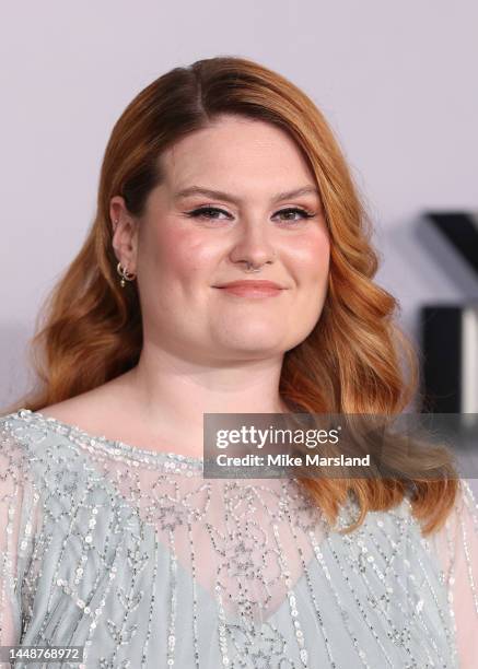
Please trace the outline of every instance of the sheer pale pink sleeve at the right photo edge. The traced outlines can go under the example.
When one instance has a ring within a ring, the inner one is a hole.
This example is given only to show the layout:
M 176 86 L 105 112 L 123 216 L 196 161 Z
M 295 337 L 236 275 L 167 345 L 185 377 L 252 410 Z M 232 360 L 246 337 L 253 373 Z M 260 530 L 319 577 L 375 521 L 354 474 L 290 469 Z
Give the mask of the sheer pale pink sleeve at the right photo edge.
M 459 667 L 471 669 L 478 666 L 478 505 L 466 480 L 432 543 L 448 589 Z

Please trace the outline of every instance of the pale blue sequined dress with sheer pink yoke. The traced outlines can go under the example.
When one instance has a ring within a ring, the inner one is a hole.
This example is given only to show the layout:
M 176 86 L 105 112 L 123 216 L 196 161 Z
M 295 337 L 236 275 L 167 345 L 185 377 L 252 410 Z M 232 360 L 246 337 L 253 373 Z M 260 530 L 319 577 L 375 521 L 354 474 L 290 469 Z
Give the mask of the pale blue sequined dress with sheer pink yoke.
M 431 538 L 407 498 L 340 535 L 294 479 L 205 479 L 28 410 L 0 443 L 1 645 L 84 648 L 50 668 L 478 667 L 466 481 Z

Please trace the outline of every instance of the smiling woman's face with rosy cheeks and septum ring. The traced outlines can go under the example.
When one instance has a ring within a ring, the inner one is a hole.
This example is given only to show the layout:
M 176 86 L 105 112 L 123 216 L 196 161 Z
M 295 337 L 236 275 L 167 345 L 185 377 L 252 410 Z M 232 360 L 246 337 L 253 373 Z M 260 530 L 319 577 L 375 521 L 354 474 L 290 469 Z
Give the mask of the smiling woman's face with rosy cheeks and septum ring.
M 144 343 L 211 364 L 282 355 L 302 342 L 324 305 L 329 238 L 293 140 L 264 121 L 223 116 L 167 150 L 162 165 L 165 180 L 144 215 L 114 239 L 137 273 Z M 280 196 L 298 189 L 307 192 Z M 131 221 L 123 204 L 112 199 L 121 223 Z M 246 273 L 246 261 L 260 271 Z M 252 297 L 218 287 L 236 280 L 283 290 Z

